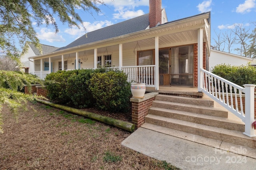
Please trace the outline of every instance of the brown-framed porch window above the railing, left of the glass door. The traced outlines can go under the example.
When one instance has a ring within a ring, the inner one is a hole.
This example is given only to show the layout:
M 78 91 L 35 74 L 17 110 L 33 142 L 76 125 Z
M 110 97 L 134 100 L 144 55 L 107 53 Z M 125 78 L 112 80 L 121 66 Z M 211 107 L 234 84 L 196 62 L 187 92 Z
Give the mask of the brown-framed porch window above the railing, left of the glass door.
M 153 58 L 153 50 L 149 51 L 139 51 L 138 52 L 138 65 L 153 65 L 154 58 Z

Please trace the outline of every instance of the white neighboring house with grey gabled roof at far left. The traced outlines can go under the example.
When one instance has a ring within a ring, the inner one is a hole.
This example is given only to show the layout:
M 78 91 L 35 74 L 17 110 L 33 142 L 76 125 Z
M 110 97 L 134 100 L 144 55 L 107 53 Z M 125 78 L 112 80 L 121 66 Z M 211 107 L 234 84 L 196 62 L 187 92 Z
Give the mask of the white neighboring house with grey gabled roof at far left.
M 29 59 L 29 58 L 41 55 L 41 53 L 32 43 L 30 42 L 27 42 L 27 43 L 28 43 L 28 51 L 27 53 L 25 53 L 20 57 L 20 61 L 22 63 L 22 67 L 20 68 L 20 70 L 27 73 L 34 74 L 34 65 L 35 65 L 34 59 Z M 41 44 L 41 47 L 42 47 L 43 55 L 51 53 L 52 51 L 55 51 L 56 49 L 58 49 L 58 47 L 52 47 L 52 46 L 43 45 L 43 44 Z M 47 63 L 43 63 L 43 64 L 44 66 L 47 67 Z M 44 70 L 47 70 L 47 68 L 44 68 Z

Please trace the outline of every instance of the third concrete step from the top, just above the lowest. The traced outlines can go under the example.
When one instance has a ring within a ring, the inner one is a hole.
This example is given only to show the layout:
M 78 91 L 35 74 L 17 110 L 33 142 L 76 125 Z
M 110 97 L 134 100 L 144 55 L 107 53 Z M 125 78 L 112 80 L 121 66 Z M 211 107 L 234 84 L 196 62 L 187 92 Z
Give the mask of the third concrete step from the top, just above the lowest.
M 244 132 L 244 123 L 242 121 L 234 121 L 232 119 L 224 117 L 209 116 L 172 109 L 163 109 L 159 107 L 151 107 L 149 109 L 149 114 L 169 117 L 182 121 L 189 121 L 201 125 L 208 125 L 212 127 L 219 127 L 223 129 Z

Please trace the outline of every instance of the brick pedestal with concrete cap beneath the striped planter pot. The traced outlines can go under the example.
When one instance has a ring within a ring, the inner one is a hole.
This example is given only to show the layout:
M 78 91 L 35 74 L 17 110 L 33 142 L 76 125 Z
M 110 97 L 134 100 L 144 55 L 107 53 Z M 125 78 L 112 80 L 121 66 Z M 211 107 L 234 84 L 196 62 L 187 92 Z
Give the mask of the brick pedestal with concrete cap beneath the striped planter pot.
M 144 98 L 130 98 L 132 102 L 132 123 L 135 128 L 139 128 L 145 122 L 145 116 L 152 107 L 153 101 L 156 100 L 158 93 L 151 92 L 144 95 Z

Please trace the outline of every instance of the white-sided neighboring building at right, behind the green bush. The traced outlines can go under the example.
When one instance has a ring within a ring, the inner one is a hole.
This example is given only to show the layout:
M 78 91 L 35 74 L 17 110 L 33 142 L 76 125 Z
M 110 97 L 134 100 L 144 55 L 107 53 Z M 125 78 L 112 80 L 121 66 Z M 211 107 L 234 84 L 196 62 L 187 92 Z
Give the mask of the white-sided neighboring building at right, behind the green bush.
M 218 64 L 230 64 L 231 66 L 246 65 L 252 63 L 254 59 L 226 53 L 224 51 L 218 51 L 211 49 L 211 57 L 209 58 L 209 70 Z

